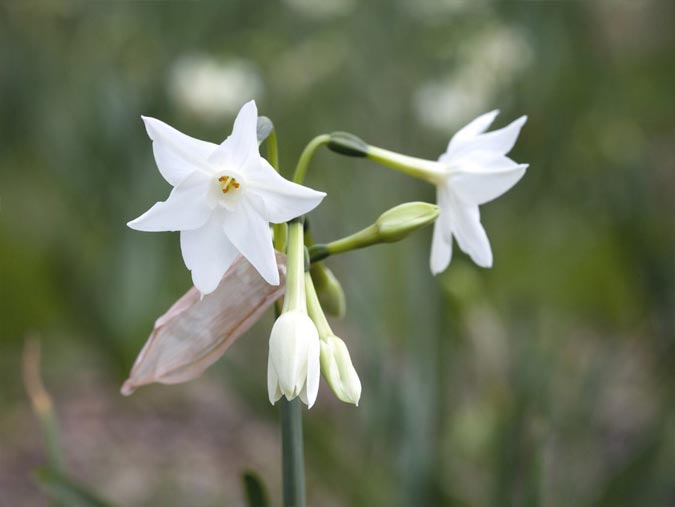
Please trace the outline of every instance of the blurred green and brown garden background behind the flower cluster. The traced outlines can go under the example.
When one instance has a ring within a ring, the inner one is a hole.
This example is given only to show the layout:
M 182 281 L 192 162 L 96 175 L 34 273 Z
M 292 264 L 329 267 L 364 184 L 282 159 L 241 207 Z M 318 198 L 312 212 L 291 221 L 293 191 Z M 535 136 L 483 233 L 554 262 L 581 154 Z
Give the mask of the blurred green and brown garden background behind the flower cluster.
M 73 475 L 115 505 L 280 505 L 264 319 L 201 379 L 119 386 L 189 286 L 178 235 L 125 223 L 169 187 L 140 115 L 221 141 L 255 98 L 288 174 L 347 130 L 436 158 L 500 108 L 530 163 L 482 208 L 491 270 L 431 231 L 331 260 L 364 390 L 305 418 L 310 505 L 675 505 L 675 4 L 0 3 L 0 505 L 43 506 L 20 358 L 41 337 Z M 317 240 L 433 189 L 320 153 Z

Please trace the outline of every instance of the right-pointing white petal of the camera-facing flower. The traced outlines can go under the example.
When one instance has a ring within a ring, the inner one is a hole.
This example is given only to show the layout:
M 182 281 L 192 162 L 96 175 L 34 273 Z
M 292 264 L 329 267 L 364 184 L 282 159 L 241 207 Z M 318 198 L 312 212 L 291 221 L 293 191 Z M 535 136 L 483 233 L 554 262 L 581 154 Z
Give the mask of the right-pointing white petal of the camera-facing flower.
M 288 222 L 309 213 L 326 197 L 325 192 L 318 192 L 283 178 L 263 158 L 253 166 L 249 165 L 246 183 L 250 191 L 263 200 L 265 216 L 269 222 Z

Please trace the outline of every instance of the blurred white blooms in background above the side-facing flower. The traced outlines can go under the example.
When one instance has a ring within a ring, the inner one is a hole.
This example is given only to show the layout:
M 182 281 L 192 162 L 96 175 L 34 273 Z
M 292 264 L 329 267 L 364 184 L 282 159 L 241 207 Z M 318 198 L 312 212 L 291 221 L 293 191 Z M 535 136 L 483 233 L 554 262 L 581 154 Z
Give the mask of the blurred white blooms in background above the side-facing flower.
M 423 84 L 413 97 L 420 123 L 447 131 L 494 109 L 498 92 L 527 68 L 533 51 L 518 31 L 493 25 L 458 49 L 454 72 Z

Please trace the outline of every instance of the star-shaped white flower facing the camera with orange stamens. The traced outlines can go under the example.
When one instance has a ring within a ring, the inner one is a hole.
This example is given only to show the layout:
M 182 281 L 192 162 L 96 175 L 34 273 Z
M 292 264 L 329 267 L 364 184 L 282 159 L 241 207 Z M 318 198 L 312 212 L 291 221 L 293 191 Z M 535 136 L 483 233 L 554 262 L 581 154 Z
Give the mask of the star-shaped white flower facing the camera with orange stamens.
M 181 251 L 202 294 L 213 292 L 239 253 L 279 284 L 269 223 L 314 209 L 326 195 L 282 178 L 260 156 L 254 101 L 239 111 L 222 144 L 200 141 L 143 117 L 159 172 L 174 188 L 166 201 L 127 225 L 180 231 Z

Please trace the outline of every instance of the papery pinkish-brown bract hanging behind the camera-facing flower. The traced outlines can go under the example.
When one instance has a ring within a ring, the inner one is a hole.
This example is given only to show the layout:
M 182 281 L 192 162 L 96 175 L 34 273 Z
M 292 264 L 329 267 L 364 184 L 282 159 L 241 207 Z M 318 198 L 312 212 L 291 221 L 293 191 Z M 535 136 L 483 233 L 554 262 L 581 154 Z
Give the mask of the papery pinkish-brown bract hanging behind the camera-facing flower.
M 279 253 L 277 265 L 277 286 L 240 256 L 211 294 L 200 298 L 192 287 L 155 322 L 122 394 L 153 382 L 178 384 L 199 377 L 284 293 L 286 258 Z

